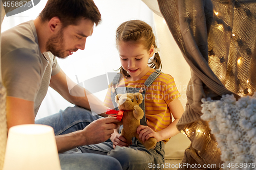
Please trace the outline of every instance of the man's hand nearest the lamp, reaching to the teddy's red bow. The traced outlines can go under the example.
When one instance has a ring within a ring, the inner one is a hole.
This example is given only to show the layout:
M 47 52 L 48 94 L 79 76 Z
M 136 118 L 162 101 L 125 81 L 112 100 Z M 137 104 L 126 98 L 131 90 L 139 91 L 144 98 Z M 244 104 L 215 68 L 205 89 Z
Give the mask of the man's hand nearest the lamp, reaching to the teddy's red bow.
M 116 117 L 100 118 L 89 124 L 82 130 L 86 145 L 101 143 L 108 140 L 114 129 L 117 128 L 115 122 L 119 122 Z

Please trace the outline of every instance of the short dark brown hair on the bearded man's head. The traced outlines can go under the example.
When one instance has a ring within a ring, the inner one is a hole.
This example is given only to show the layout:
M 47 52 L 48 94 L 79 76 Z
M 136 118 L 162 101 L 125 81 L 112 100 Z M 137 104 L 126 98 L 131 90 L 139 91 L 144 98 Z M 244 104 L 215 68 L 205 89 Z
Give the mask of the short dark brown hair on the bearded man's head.
M 80 19 L 90 19 L 96 26 L 101 20 L 100 12 L 93 0 L 48 0 L 39 17 L 43 22 L 58 17 L 62 28 L 77 25 Z

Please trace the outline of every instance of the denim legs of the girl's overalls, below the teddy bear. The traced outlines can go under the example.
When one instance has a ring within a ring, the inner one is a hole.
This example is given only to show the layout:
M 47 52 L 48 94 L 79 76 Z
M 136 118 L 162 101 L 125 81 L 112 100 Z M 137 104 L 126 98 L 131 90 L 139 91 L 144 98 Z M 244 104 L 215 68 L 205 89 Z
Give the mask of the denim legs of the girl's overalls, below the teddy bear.
M 78 147 L 82 153 L 94 153 L 108 155 L 116 158 L 123 169 L 161 169 L 154 165 L 164 164 L 164 142 L 157 142 L 155 149 L 147 150 L 136 140 L 130 147 L 119 147 L 113 149 L 112 142 L 85 145 Z M 155 167 L 155 168 L 154 168 Z

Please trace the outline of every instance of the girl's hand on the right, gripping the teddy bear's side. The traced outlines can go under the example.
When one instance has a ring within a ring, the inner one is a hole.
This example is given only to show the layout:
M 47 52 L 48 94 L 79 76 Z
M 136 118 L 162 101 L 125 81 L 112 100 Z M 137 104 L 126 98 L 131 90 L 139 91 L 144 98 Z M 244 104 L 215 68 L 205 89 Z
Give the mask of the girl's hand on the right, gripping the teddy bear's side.
M 148 126 L 140 125 L 137 128 L 137 133 L 139 134 L 139 138 L 143 141 L 143 143 L 148 140 L 150 137 L 154 137 L 157 139 L 157 142 L 161 141 L 161 136 L 159 133 L 155 132 Z

